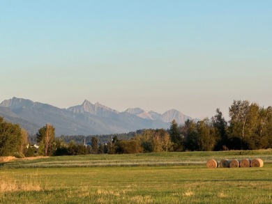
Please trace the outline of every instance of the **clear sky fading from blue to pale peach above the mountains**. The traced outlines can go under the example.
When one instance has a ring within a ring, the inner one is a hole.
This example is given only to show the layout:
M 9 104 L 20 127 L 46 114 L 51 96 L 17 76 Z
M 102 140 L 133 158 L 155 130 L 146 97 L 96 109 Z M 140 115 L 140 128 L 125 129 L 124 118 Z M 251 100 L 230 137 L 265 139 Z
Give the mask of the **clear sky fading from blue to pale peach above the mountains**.
M 272 1 L 0 0 L 0 102 L 177 109 L 272 105 Z

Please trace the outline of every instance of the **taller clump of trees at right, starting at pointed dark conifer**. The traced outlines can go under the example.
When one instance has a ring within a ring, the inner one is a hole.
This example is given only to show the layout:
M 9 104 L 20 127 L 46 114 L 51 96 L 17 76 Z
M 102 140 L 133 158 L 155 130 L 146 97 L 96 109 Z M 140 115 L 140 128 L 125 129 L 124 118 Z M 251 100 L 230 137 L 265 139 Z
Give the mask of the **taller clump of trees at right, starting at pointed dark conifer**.
M 247 100 L 234 100 L 227 123 L 220 109 L 211 120 L 183 125 L 172 121 L 174 150 L 255 150 L 272 148 L 272 108 L 260 107 Z

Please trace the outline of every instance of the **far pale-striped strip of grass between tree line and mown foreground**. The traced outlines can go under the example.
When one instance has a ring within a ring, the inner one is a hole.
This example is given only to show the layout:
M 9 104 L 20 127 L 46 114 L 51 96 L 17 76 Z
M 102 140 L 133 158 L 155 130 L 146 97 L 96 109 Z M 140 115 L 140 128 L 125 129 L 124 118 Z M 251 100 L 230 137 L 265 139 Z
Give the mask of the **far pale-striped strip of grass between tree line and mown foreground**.
M 2 168 L 60 168 L 94 166 L 187 166 L 204 165 L 209 159 L 262 158 L 272 163 L 272 150 L 225 152 L 162 152 L 136 155 L 83 155 L 47 157 L 33 160 L 17 159 L 0 164 Z

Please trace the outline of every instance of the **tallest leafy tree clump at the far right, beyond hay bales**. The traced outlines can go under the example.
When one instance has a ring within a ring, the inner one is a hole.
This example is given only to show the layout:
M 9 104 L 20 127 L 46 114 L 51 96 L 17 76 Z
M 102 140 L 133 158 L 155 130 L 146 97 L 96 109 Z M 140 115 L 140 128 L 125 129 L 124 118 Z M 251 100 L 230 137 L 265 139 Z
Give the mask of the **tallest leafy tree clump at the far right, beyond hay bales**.
M 234 100 L 229 108 L 230 141 L 236 141 L 232 146 L 238 149 L 268 148 L 271 112 L 271 107 L 264 109 L 256 103 Z

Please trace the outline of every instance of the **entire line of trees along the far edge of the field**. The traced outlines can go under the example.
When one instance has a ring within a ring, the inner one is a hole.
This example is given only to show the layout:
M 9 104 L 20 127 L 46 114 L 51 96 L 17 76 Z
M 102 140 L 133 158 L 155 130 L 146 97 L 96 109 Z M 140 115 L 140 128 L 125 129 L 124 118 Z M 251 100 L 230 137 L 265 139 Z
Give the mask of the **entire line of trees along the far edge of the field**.
M 0 118 L 0 156 L 129 154 L 144 152 L 255 150 L 272 148 L 272 108 L 234 100 L 229 121 L 220 109 L 211 119 L 172 121 L 169 130 L 137 130 L 103 136 L 60 136 L 49 123 L 29 143 L 27 131 Z

